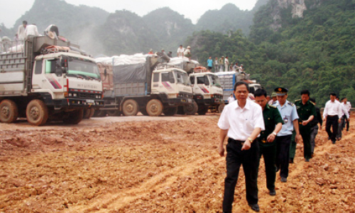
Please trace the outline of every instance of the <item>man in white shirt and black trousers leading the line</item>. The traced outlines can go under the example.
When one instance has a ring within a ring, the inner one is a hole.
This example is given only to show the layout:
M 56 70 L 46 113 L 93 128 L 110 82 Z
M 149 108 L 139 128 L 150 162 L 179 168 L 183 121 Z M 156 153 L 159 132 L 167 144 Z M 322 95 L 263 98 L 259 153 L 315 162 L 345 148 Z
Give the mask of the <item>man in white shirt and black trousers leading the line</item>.
M 228 136 L 223 212 L 231 212 L 241 165 L 245 174 L 246 200 L 251 209 L 259 212 L 257 137 L 265 130 L 263 111 L 258 104 L 248 99 L 249 86 L 246 82 L 234 84 L 234 95 L 236 101 L 224 107 L 218 121 L 220 129 L 218 152 L 221 157 L 224 156 L 224 139 Z

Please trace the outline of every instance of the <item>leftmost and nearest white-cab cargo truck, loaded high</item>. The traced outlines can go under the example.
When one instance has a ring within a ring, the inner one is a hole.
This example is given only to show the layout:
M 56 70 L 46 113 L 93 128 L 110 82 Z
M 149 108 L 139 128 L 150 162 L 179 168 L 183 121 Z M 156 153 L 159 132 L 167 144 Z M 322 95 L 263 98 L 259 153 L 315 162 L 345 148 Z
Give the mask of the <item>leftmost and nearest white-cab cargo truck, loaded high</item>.
M 0 121 L 26 117 L 40 126 L 60 120 L 78 124 L 84 109 L 104 106 L 93 58 L 69 41 L 29 36 L 0 45 Z

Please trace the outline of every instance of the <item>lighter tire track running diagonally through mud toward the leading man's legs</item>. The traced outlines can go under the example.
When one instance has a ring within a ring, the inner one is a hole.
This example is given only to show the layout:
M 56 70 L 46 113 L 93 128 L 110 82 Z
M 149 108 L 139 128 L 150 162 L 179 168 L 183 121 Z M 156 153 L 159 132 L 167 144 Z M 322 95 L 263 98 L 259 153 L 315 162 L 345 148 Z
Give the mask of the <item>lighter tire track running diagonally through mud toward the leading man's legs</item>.
M 109 210 L 118 211 L 119 209 L 124 209 L 126 205 L 130 204 L 134 200 L 138 200 L 141 197 L 149 195 L 153 191 L 164 190 L 173 182 L 178 180 L 178 178 L 184 177 L 194 172 L 200 165 L 211 162 L 224 161 L 224 158 L 220 158 L 219 155 L 214 155 L 207 158 L 202 158 L 195 162 L 185 163 L 184 166 L 178 166 L 172 170 L 167 170 L 164 173 L 155 175 L 154 178 L 143 182 L 138 187 L 123 192 L 118 192 L 116 194 L 106 194 L 102 197 L 97 197 L 91 204 L 86 204 L 84 206 L 75 206 L 67 209 L 65 212 L 107 212 Z

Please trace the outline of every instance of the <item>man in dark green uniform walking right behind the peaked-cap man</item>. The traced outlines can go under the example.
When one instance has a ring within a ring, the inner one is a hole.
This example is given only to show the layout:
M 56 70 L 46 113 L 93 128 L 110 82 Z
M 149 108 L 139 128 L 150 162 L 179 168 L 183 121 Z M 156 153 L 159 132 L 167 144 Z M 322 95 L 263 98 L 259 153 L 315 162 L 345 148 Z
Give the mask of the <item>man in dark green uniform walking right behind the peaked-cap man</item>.
M 298 126 L 300 126 L 300 135 L 303 139 L 303 155 L 306 162 L 310 162 L 312 158 L 312 148 L 310 143 L 311 127 L 310 121 L 317 116 L 315 104 L 310 102 L 310 91 L 303 89 L 301 91 L 301 99 L 295 101 L 297 114 L 299 116 Z M 290 153 L 295 153 L 296 146 L 291 144 Z

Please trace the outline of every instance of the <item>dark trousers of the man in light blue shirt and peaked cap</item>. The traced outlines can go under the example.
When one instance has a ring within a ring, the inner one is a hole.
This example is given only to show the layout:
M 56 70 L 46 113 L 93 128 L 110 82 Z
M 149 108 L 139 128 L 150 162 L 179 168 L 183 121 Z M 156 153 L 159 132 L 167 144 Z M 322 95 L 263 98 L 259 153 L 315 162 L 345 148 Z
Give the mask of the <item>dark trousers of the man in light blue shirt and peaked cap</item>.
M 288 160 L 292 135 L 276 136 L 276 167 L 280 168 L 280 177 L 288 178 Z

